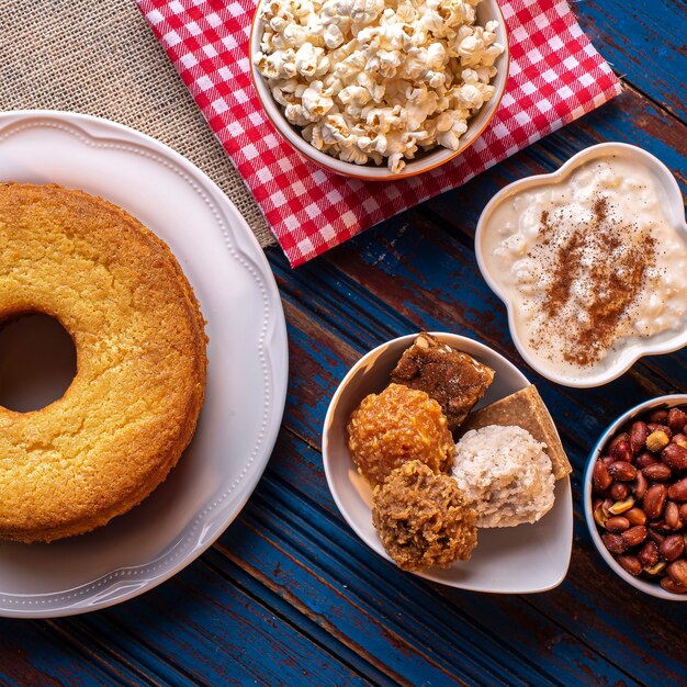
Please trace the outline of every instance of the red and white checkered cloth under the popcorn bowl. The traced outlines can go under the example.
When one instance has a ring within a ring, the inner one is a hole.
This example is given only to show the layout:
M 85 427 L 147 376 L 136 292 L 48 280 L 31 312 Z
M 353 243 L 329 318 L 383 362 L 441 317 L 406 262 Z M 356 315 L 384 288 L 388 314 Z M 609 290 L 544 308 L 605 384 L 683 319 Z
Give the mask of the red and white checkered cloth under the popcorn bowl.
M 510 34 L 506 94 L 480 139 L 430 172 L 348 180 L 304 161 L 275 133 L 250 80 L 257 0 L 136 0 L 252 191 L 293 267 L 412 207 L 620 93 L 564 0 L 500 0 Z

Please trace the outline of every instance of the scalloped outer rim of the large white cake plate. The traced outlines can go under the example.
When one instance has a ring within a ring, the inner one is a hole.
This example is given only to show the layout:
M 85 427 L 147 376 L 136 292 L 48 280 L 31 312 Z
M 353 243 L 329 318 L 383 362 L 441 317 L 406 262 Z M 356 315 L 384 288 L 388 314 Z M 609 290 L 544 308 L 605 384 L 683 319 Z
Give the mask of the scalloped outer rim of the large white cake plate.
M 153 156 L 166 167 L 171 167 L 201 196 L 204 195 L 205 202 L 214 203 L 222 216 L 230 218 L 230 222 L 222 223 L 222 226 L 216 228 L 224 232 L 228 259 L 236 261 L 240 269 L 247 270 L 256 285 L 262 291 L 266 306 L 259 337 L 261 350 L 258 354 L 263 370 L 264 391 L 271 398 L 269 407 L 267 404 L 263 406 L 263 430 L 257 438 L 254 455 L 245 465 L 237 483 L 226 493 L 227 498 L 230 495 L 235 496 L 240 486 L 240 496 L 235 499 L 230 509 L 223 514 L 221 519 L 213 521 L 209 518 L 210 522 L 199 537 L 199 543 L 185 554 L 177 555 L 179 560 L 164 572 L 147 577 L 143 583 L 132 585 L 131 573 L 135 568 L 129 566 L 111 571 L 77 587 L 58 589 L 49 594 L 12 595 L 3 593 L 0 588 L 0 617 L 55 618 L 106 608 L 153 589 L 199 558 L 226 530 L 257 486 L 277 441 L 286 398 L 289 356 L 281 297 L 269 262 L 241 214 L 210 177 L 179 153 L 147 134 L 106 119 L 76 112 L 59 110 L 0 112 L 0 146 L 2 140 L 13 133 L 31 126 L 77 129 L 88 138 L 100 140 L 98 145 L 104 148 L 117 143 L 121 144 L 120 147 L 128 148 L 133 154 L 137 153 L 135 148 L 140 148 L 140 155 Z M 203 513 L 205 517 L 210 516 L 212 507 L 199 508 L 194 521 L 201 518 Z M 149 561 L 145 567 L 159 567 L 162 559 L 174 558 L 172 553 L 176 548 L 177 544 L 165 556 Z M 85 590 L 89 587 L 93 592 L 97 589 L 98 593 L 87 596 Z M 42 607 L 42 604 L 54 601 L 60 595 L 69 599 L 75 596 L 82 598 L 77 604 L 70 602 L 64 607 Z

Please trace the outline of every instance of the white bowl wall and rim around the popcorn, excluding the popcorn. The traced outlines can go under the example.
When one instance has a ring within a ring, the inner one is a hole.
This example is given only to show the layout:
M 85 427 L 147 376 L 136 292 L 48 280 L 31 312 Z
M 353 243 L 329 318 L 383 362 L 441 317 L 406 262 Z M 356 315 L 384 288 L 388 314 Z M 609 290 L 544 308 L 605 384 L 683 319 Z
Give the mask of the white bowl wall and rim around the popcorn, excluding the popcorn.
M 261 1 L 268 2 L 269 0 Z M 354 179 L 364 179 L 365 181 L 406 179 L 408 177 L 414 177 L 421 172 L 429 171 L 430 169 L 435 169 L 436 167 L 439 167 L 440 165 L 443 165 L 444 162 L 448 162 L 459 156 L 480 137 L 496 113 L 500 100 L 506 92 L 508 66 L 510 63 L 506 22 L 497 0 L 482 0 L 482 2 L 477 5 L 477 22 L 481 25 L 484 25 L 487 21 L 498 22 L 498 29 L 496 30 L 497 42 L 505 48 L 504 53 L 495 63 L 498 68 L 498 74 L 493 81 L 493 86 L 495 87 L 494 97 L 482 108 L 482 110 L 480 110 L 476 116 L 470 120 L 468 131 L 461 137 L 461 145 L 458 150 L 449 150 L 448 148 L 438 147 L 418 157 L 417 160 L 409 161 L 403 171 L 397 174 L 392 173 L 385 166 L 376 167 L 374 165 L 354 165 L 353 162 L 345 162 L 327 155 L 326 153 L 317 150 L 317 148 L 313 147 L 303 138 L 303 136 L 301 136 L 297 127 L 293 126 L 289 120 L 286 120 L 279 104 L 274 102 L 267 81 L 260 75 L 252 61 L 252 56 L 260 49 L 260 40 L 263 29 L 262 22 L 258 19 L 258 9 L 256 9 L 250 31 L 250 69 L 252 82 L 258 93 L 260 104 L 274 128 L 291 145 L 291 147 L 296 150 L 296 153 L 305 157 L 307 160 L 337 174 Z

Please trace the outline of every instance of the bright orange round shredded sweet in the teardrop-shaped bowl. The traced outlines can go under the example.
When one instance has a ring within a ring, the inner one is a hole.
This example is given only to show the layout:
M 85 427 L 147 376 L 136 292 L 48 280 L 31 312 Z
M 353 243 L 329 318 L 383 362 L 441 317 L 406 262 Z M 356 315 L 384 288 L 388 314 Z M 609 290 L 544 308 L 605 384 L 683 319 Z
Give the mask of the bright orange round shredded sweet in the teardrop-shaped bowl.
M 446 472 L 454 450 L 439 404 L 425 392 L 399 384 L 362 399 L 350 417 L 348 448 L 358 471 L 373 486 L 414 459 L 433 472 Z

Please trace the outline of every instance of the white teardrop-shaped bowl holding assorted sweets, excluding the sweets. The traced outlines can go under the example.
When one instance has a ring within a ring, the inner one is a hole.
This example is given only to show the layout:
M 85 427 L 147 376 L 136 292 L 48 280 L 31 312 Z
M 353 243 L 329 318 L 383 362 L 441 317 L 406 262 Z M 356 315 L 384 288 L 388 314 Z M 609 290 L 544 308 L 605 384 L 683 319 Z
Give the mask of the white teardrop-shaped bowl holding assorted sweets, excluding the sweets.
M 529 385 L 515 365 L 491 348 L 455 334 L 435 333 L 435 336 L 495 370 L 494 382 L 477 407 Z M 334 500 L 356 533 L 386 560 L 391 559 L 372 525 L 372 492 L 356 471 L 346 446 L 346 425 L 364 396 L 379 393 L 388 384 L 391 371 L 415 337 L 383 344 L 351 368 L 331 398 L 323 431 L 325 473 Z M 528 594 L 558 586 L 567 572 L 573 545 L 570 478 L 556 482 L 553 508 L 539 522 L 480 529 L 477 540 L 469 562 L 459 561 L 448 570 L 416 574 L 461 589 L 496 594 Z

